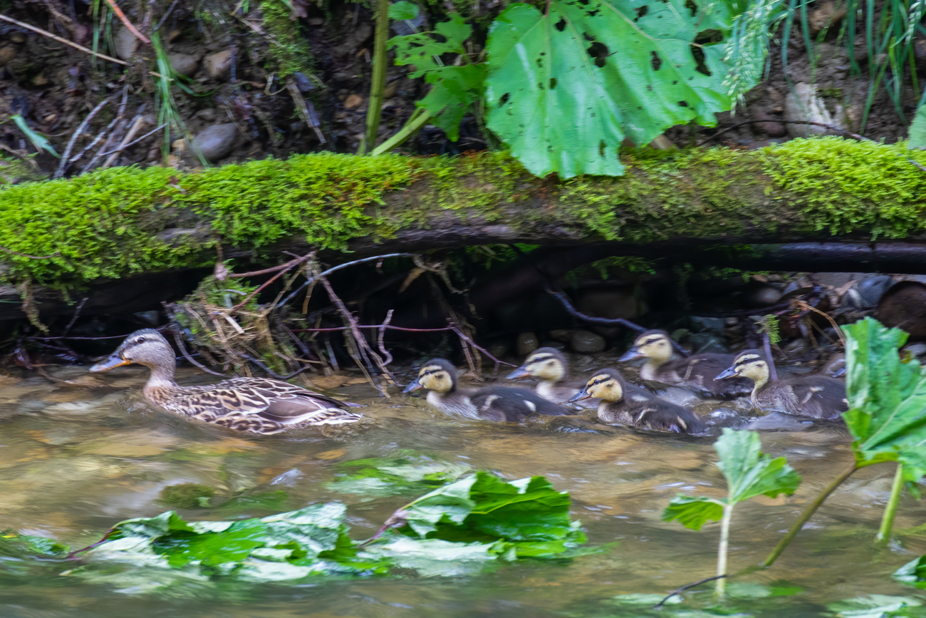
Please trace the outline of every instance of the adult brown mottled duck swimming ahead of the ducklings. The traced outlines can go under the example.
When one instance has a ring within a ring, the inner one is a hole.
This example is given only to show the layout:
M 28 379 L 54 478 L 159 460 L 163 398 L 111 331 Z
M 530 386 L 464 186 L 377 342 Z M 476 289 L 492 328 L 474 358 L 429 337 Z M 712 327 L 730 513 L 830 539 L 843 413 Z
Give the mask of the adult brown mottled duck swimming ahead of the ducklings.
M 122 345 L 91 372 L 108 372 L 137 363 L 151 370 L 144 397 L 178 414 L 238 431 L 279 434 L 296 427 L 357 423 L 359 414 L 347 404 L 300 386 L 269 378 L 232 378 L 208 386 L 180 386 L 174 382 L 177 362 L 173 348 L 150 328 L 130 334 Z

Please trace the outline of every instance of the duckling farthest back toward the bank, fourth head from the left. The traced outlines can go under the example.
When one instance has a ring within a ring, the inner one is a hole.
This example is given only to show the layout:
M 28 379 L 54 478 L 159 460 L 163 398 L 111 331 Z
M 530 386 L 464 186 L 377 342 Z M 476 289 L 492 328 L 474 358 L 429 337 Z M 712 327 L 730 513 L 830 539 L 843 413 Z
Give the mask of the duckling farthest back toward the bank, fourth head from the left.
M 665 331 L 653 330 L 640 334 L 619 362 L 645 357 L 640 368 L 640 378 L 663 382 L 669 385 L 683 385 L 700 391 L 708 397 L 732 399 L 742 397 L 752 390 L 748 380 L 738 378 L 719 384 L 714 378 L 729 367 L 732 354 L 695 354 L 687 359 L 672 359 L 672 343 Z

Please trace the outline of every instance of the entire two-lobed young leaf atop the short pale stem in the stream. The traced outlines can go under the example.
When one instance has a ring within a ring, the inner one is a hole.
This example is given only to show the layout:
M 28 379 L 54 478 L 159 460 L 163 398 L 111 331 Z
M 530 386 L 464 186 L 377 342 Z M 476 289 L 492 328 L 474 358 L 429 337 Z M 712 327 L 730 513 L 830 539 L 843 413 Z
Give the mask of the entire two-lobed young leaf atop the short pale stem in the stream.
M 680 494 L 662 511 L 663 520 L 678 520 L 685 527 L 700 530 L 707 520 L 719 520 L 725 506 L 732 507 L 762 495 L 770 498 L 791 495 L 801 483 L 800 474 L 787 460 L 771 459 L 761 452 L 762 442 L 757 432 L 724 427 L 714 450 L 720 455 L 717 467 L 727 479 L 727 498 L 690 498 Z

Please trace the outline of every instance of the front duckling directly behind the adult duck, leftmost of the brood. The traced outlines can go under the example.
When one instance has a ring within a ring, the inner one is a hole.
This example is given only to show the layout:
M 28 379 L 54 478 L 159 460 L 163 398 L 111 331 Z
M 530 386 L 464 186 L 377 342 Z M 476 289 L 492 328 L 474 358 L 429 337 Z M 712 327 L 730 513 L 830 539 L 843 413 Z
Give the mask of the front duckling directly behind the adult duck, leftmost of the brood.
M 427 388 L 427 401 L 434 408 L 470 419 L 523 421 L 532 414 L 561 416 L 574 414 L 524 388 L 486 386 L 457 388 L 457 368 L 446 359 L 431 359 L 421 366 L 418 378 L 403 393 Z

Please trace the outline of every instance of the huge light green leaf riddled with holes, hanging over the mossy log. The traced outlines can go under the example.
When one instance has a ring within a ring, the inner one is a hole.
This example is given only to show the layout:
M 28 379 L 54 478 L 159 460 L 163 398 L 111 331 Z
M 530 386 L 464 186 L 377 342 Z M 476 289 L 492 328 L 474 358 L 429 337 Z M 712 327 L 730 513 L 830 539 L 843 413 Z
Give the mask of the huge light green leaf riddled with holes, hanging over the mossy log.
M 722 2 L 550 0 L 548 15 L 508 6 L 486 44 L 488 126 L 536 175 L 620 175 L 625 138 L 646 145 L 730 109 L 725 45 L 710 36 L 731 22 Z

